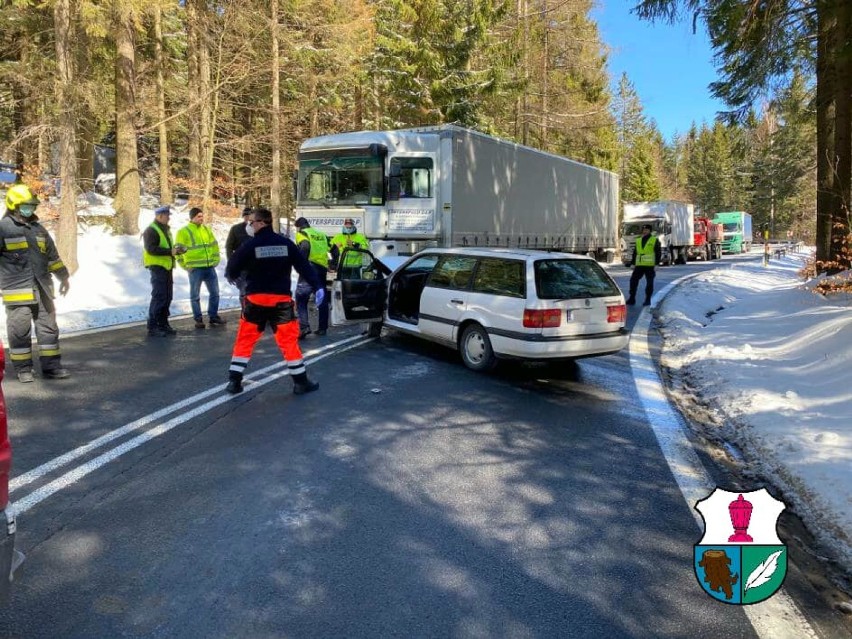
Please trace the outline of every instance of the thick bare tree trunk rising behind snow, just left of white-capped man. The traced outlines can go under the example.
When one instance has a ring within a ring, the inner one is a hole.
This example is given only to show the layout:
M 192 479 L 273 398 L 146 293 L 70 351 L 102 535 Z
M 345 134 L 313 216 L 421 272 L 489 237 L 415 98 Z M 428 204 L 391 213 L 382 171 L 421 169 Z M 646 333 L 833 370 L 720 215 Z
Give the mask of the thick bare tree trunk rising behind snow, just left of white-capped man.
M 133 14 L 123 2 L 113 16 L 115 33 L 115 231 L 139 232 L 139 158 L 136 150 L 136 98 Z

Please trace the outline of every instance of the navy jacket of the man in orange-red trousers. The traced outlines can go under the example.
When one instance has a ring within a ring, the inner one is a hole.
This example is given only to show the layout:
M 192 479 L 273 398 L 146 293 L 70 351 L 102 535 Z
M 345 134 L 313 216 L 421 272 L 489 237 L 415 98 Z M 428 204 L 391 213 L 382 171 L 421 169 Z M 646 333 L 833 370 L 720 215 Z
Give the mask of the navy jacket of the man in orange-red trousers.
M 324 284 L 291 239 L 279 235 L 272 227 L 265 226 L 231 256 L 225 267 L 225 277 L 233 282 L 245 271 L 246 295 L 291 295 L 290 273 L 293 268 L 314 289 Z

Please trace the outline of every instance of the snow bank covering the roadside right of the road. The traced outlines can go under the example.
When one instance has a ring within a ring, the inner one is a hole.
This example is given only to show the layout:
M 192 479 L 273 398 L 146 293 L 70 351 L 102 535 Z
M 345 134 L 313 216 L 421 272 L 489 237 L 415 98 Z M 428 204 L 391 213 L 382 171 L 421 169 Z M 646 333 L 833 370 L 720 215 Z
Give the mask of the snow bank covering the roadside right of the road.
M 804 256 L 739 262 L 658 310 L 662 361 L 719 417 L 718 436 L 852 567 L 852 301 L 808 290 Z

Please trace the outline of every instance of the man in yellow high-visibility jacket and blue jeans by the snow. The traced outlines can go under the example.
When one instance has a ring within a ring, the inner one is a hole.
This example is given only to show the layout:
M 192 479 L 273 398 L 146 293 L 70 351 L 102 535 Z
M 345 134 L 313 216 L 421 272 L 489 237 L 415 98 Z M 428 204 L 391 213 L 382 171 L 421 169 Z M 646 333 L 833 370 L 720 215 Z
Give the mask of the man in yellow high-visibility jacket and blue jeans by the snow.
M 177 234 L 178 246 L 186 252 L 177 258 L 178 264 L 189 274 L 189 303 L 195 328 L 204 328 L 201 315 L 201 284 L 207 288 L 207 317 L 210 326 L 224 326 L 227 323 L 219 317 L 219 277 L 216 266 L 219 264 L 219 243 L 209 226 L 204 225 L 204 212 L 199 208 L 189 209 L 189 224 Z

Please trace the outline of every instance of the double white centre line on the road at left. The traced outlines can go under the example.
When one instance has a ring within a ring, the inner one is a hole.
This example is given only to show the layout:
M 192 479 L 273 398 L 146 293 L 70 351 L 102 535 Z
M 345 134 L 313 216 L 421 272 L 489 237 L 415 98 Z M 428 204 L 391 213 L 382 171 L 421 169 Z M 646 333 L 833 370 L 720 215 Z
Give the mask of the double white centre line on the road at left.
M 355 336 L 355 337 L 347 338 L 345 340 L 341 340 L 339 342 L 335 342 L 333 344 L 329 344 L 328 346 L 324 346 L 320 349 L 316 349 L 313 352 L 315 352 L 315 353 L 323 353 L 323 351 L 331 351 L 331 352 L 327 352 L 325 354 L 320 354 L 316 357 L 306 359 L 305 363 L 306 364 L 313 364 L 313 363 L 318 362 L 322 359 L 325 359 L 326 357 L 329 357 L 331 355 L 337 355 L 337 354 L 340 354 L 340 353 L 345 353 L 348 350 L 351 350 L 353 348 L 357 348 L 358 346 L 362 346 L 363 344 L 366 344 L 370 341 L 373 341 L 373 339 L 375 339 L 375 338 L 363 338 L 361 335 L 358 335 L 358 336 Z M 351 343 L 351 342 L 355 342 L 355 343 Z M 350 345 L 346 346 L 345 348 L 338 348 L 338 347 L 343 346 L 345 344 L 350 344 Z M 277 368 L 283 368 L 285 366 L 286 366 L 286 363 L 282 361 L 282 362 L 279 362 L 277 364 L 273 364 L 272 366 L 267 366 L 266 368 L 255 371 L 254 373 L 252 373 L 250 375 L 247 375 L 246 379 L 260 378 L 262 375 L 264 375 L 264 374 L 266 374 L 270 371 L 273 371 Z M 138 435 L 137 437 L 134 437 L 133 439 L 130 439 L 130 440 L 124 442 L 123 444 L 113 448 L 112 450 L 110 450 L 106 453 L 103 453 L 102 455 L 99 455 L 98 457 L 92 459 L 91 461 L 86 462 L 85 464 L 82 464 L 82 465 L 78 466 L 77 468 L 75 468 L 73 470 L 70 470 L 69 472 L 67 472 L 64 475 L 62 475 L 61 477 L 59 477 L 58 479 L 56 479 L 56 480 L 54 480 L 54 481 L 52 481 L 48 484 L 45 484 L 44 486 L 42 486 L 38 490 L 26 495 L 25 497 L 22 497 L 21 499 L 16 500 L 13 504 L 10 504 L 10 509 L 16 515 L 21 514 L 23 512 L 26 512 L 27 510 L 29 510 L 30 508 L 32 508 L 33 506 L 35 506 L 39 502 L 43 501 L 44 499 L 46 499 L 50 495 L 54 494 L 55 492 L 62 490 L 63 488 L 66 488 L 67 486 L 70 486 L 71 484 L 76 482 L 81 477 L 85 477 L 86 475 L 88 475 L 92 471 L 97 470 L 98 468 L 100 468 L 104 464 L 107 464 L 107 463 L 113 461 L 114 459 L 120 457 L 124 453 L 133 450 L 137 446 L 140 446 L 140 445 L 142 445 L 142 444 L 144 444 L 148 441 L 151 441 L 152 439 L 159 437 L 163 433 L 167 433 L 168 431 L 170 431 L 175 426 L 179 426 L 179 425 L 181 425 L 181 424 L 183 424 L 183 423 L 185 423 L 185 422 L 187 422 L 187 421 L 189 421 L 189 420 L 191 420 L 191 419 L 193 419 L 193 418 L 195 418 L 199 415 L 206 413 L 209 410 L 212 410 L 213 408 L 215 408 L 216 406 L 219 406 L 220 404 L 224 404 L 225 402 L 229 402 L 233 399 L 236 399 L 237 397 L 241 397 L 245 393 L 250 393 L 250 392 L 260 388 L 261 386 L 265 386 L 266 384 L 269 384 L 270 382 L 273 382 L 277 379 L 280 379 L 281 377 L 287 377 L 288 375 L 289 375 L 289 373 L 286 369 L 281 371 L 281 372 L 274 373 L 272 375 L 269 375 L 268 377 L 260 379 L 259 381 L 255 382 L 253 384 L 247 385 L 245 387 L 245 391 L 241 395 L 219 396 L 219 397 L 217 397 L 217 398 L 215 398 L 215 399 L 213 399 L 209 402 L 206 402 L 204 404 L 201 404 L 200 406 L 193 408 L 192 410 L 190 410 L 188 412 L 181 413 L 181 414 L 177 415 L 176 417 L 174 417 L 174 418 L 172 418 L 172 419 L 170 419 L 166 422 L 158 424 L 158 425 L 154 426 L 153 428 L 151 428 L 150 430 L 142 433 L 141 435 Z M 107 433 L 106 435 L 103 435 L 101 437 L 98 437 L 97 439 L 92 440 L 91 442 L 89 442 L 88 444 L 85 444 L 84 446 L 80 446 L 79 448 L 76 448 L 76 449 L 74 449 L 74 450 L 72 450 L 68 453 L 65 453 L 64 455 L 61 455 L 60 457 L 52 459 L 51 461 L 49 461 L 45 464 L 42 464 L 41 466 L 34 468 L 33 470 L 25 473 L 24 475 L 21 475 L 20 477 L 15 478 L 15 480 L 10 482 L 10 491 L 14 490 L 16 488 L 20 488 L 20 487 L 22 487 L 26 484 L 31 483 L 31 482 L 34 482 L 34 481 L 40 479 L 41 477 L 44 477 L 48 473 L 50 473 L 50 472 L 52 472 L 52 471 L 54 471 L 54 470 L 56 470 L 56 469 L 58 469 L 62 466 L 74 461 L 75 459 L 82 457 L 83 455 L 91 452 L 92 450 L 103 446 L 104 444 L 107 444 L 107 443 L 109 443 L 109 442 L 111 442 L 115 439 L 118 439 L 119 437 L 122 437 L 123 435 L 126 435 L 129 432 L 132 432 L 134 430 L 142 428 L 143 426 L 145 426 L 147 424 L 156 422 L 161 417 L 165 417 L 166 415 L 174 413 L 175 411 L 178 411 L 182 408 L 185 408 L 186 406 L 189 406 L 189 405 L 194 404 L 198 401 L 201 401 L 201 400 L 209 397 L 210 395 L 215 395 L 217 393 L 221 393 L 222 391 L 225 390 L 225 386 L 226 386 L 226 384 L 219 384 L 218 386 L 214 386 L 213 388 L 210 388 L 206 391 L 203 391 L 201 393 L 193 395 L 192 397 L 189 397 L 189 398 L 187 398 L 183 401 L 177 402 L 175 404 L 171 404 L 170 406 L 167 406 L 167 407 L 163 408 L 162 410 L 159 410 L 155 413 L 151 413 L 150 415 L 146 415 L 145 417 L 142 417 L 142 418 L 137 419 L 133 422 L 130 422 L 129 424 L 126 424 L 125 426 L 117 428 L 116 430 L 111 431 L 111 432 Z M 12 484 L 15 484 L 14 487 L 12 486 Z

